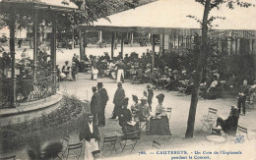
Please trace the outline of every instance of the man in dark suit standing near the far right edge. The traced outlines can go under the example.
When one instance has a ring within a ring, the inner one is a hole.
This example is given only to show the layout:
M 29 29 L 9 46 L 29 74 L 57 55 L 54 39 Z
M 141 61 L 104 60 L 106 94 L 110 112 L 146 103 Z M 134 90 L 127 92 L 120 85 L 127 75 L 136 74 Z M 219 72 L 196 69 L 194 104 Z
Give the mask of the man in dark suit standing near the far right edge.
M 243 80 L 243 84 L 241 85 L 240 91 L 239 91 L 237 107 L 238 107 L 239 114 L 241 114 L 241 107 L 242 107 L 242 112 L 244 116 L 245 116 L 245 100 L 248 94 L 249 94 L 249 87 L 247 85 L 247 80 Z

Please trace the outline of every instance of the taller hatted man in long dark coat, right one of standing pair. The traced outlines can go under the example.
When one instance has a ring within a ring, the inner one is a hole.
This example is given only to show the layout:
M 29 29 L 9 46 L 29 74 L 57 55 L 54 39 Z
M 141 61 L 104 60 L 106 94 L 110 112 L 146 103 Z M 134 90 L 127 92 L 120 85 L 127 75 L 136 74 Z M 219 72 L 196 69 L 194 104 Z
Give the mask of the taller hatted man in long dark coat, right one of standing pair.
M 108 101 L 108 95 L 105 88 L 103 88 L 102 82 L 97 82 L 97 92 L 100 94 L 100 111 L 98 114 L 98 127 L 105 126 L 105 105 Z

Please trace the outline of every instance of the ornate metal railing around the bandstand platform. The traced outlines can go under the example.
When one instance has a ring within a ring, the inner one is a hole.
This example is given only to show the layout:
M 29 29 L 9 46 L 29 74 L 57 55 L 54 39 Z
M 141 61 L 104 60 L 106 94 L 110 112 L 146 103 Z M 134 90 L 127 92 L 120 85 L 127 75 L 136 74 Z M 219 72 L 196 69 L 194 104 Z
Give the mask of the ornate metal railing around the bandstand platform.
M 1 108 L 10 107 L 12 97 L 11 80 L 2 81 L 2 104 Z M 32 102 L 51 96 L 56 93 L 58 84 L 54 85 L 51 71 L 37 72 L 35 80 L 17 80 L 16 101 L 18 103 Z

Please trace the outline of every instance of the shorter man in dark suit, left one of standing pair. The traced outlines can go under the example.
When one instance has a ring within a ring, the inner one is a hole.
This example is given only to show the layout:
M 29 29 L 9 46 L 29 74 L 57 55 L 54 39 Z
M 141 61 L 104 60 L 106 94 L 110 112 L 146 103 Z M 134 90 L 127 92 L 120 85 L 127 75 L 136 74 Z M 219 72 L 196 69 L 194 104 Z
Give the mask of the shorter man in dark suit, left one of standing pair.
M 100 94 L 96 91 L 96 86 L 93 86 L 94 95 L 91 100 L 91 112 L 94 114 L 94 123 L 97 125 L 97 117 L 100 112 Z

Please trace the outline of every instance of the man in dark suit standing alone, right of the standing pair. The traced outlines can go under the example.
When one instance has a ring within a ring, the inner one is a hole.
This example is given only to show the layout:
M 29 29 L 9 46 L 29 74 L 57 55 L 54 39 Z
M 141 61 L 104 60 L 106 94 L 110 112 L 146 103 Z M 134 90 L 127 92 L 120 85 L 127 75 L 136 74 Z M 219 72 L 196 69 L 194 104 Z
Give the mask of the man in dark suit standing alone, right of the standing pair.
M 121 110 L 121 107 L 122 107 L 122 101 L 125 97 L 125 91 L 123 89 L 121 81 L 119 81 L 117 83 L 117 87 L 118 88 L 115 91 L 114 99 L 113 99 L 114 110 L 113 110 L 113 116 L 111 117 L 111 119 L 116 119 L 116 116 L 119 116 L 120 110 Z

